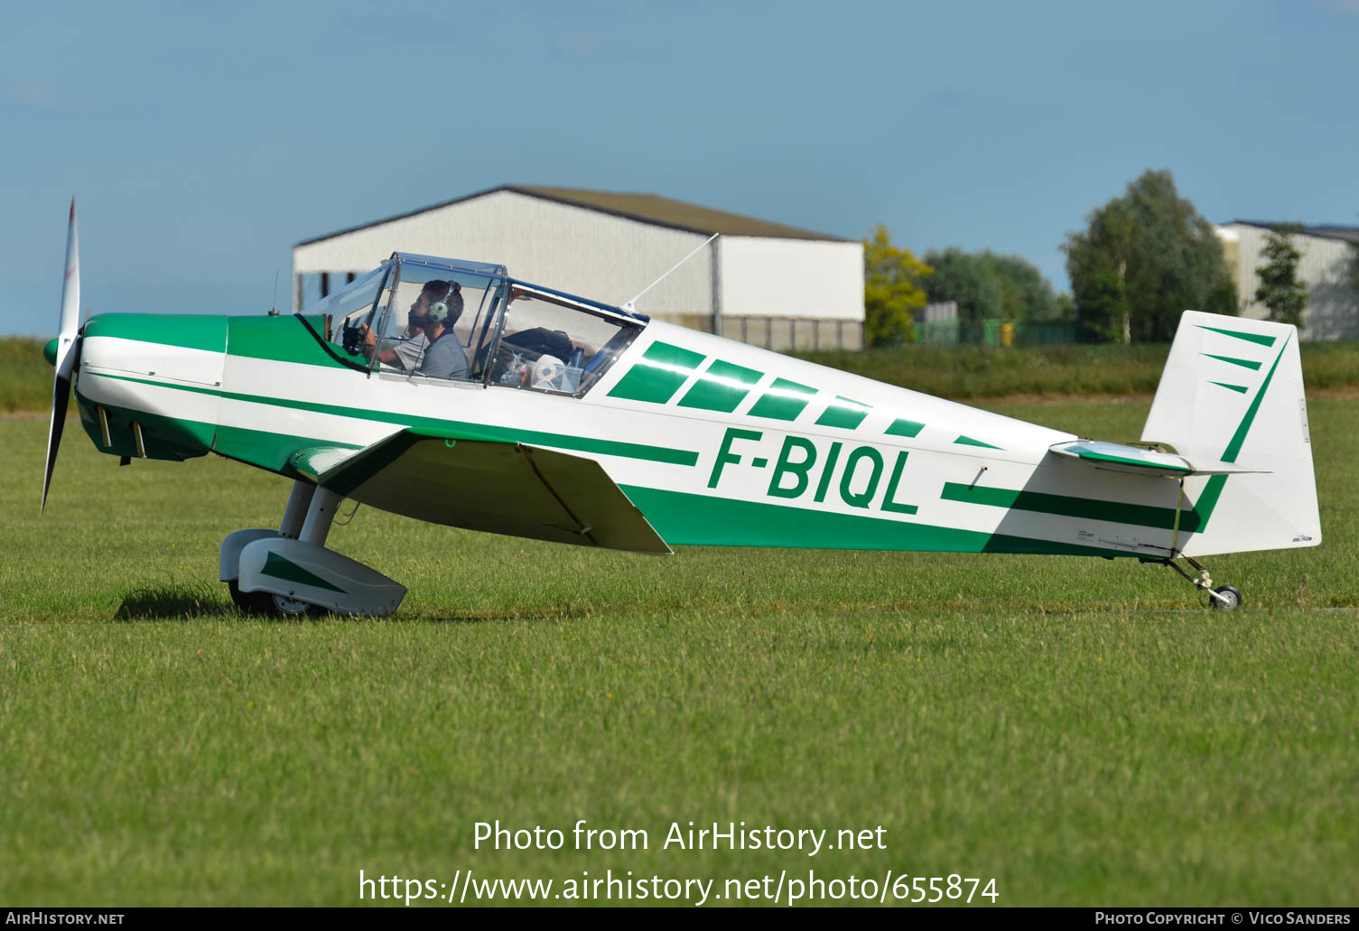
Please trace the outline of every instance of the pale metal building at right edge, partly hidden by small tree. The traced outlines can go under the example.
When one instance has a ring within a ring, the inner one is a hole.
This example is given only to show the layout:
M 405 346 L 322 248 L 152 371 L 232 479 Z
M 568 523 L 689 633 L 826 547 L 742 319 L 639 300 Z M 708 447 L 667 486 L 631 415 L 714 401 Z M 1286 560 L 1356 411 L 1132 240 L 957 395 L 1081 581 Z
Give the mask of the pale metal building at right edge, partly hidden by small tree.
M 1218 227 L 1227 254 L 1241 315 L 1264 319 L 1269 309 L 1256 300 L 1260 277 L 1268 264 L 1265 236 L 1280 226 L 1256 220 L 1233 220 Z M 1303 340 L 1359 340 L 1359 292 L 1349 287 L 1349 262 L 1359 247 L 1359 227 L 1303 226 L 1292 243 L 1302 253 L 1298 276 L 1307 284 L 1307 307 L 1302 311 Z

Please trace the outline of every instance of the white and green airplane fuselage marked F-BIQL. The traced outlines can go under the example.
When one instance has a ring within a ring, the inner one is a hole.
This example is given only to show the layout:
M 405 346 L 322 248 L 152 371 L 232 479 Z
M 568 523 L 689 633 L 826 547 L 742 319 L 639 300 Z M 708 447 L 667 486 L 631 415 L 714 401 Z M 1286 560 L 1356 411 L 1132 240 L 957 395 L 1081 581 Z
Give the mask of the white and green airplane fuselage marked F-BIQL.
M 406 428 L 560 450 L 598 461 L 670 544 L 1132 556 L 1176 533 L 1174 482 L 1051 455 L 1071 434 L 659 321 L 579 397 L 360 371 L 325 326 L 94 317 L 82 423 L 114 455 L 294 478 L 300 450 Z

